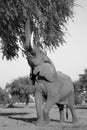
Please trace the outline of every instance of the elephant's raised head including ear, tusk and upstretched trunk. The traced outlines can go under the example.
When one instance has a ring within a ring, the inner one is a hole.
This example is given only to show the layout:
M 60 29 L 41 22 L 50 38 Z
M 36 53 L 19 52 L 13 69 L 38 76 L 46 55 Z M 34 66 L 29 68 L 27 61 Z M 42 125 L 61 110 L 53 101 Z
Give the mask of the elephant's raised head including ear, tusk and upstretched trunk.
M 31 74 L 43 77 L 47 81 L 54 81 L 57 78 L 55 66 L 51 59 L 34 44 L 34 32 L 30 28 L 29 19 L 25 26 L 26 42 L 24 45 L 28 64 L 31 67 Z

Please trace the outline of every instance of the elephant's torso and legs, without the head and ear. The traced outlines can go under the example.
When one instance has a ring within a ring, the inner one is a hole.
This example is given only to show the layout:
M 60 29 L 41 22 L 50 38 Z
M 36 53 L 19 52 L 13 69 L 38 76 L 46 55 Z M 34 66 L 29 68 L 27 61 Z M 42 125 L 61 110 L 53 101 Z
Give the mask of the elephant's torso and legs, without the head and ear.
M 77 122 L 76 112 L 74 109 L 74 88 L 73 83 L 69 78 L 66 78 L 58 73 L 58 81 L 49 83 L 44 80 L 38 80 L 35 85 L 35 102 L 37 110 L 37 125 L 46 125 L 49 123 L 49 111 L 56 104 L 67 104 L 72 114 L 73 123 Z M 46 104 L 43 108 L 42 98 L 47 97 Z M 43 108 L 43 109 L 42 109 Z M 64 121 L 63 106 L 60 105 L 60 121 Z

